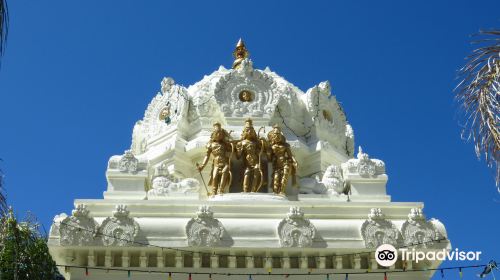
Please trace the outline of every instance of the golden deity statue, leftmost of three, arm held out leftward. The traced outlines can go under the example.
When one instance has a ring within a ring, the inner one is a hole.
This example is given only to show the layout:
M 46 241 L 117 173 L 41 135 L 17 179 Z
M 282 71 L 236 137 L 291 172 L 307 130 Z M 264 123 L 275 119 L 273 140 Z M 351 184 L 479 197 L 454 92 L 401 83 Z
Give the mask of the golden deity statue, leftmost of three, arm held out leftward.
M 231 185 L 231 156 L 233 153 L 233 144 L 229 133 L 222 128 L 220 123 L 213 125 L 210 141 L 207 143 L 207 154 L 200 165 L 196 163 L 201 172 L 208 163 L 210 156 L 213 156 L 212 171 L 208 185 L 212 189 L 211 195 L 223 194 L 228 186 Z

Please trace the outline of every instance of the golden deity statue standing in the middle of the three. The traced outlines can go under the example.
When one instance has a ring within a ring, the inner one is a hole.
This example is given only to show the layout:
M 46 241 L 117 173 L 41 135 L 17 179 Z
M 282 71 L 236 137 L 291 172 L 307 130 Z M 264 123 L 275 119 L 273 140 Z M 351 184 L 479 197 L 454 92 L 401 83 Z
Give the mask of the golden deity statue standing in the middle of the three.
M 241 139 L 236 143 L 236 157 L 243 158 L 243 192 L 257 192 L 262 186 L 264 176 L 261 155 L 264 147 L 264 139 L 259 139 L 252 120 L 247 119 L 241 132 Z

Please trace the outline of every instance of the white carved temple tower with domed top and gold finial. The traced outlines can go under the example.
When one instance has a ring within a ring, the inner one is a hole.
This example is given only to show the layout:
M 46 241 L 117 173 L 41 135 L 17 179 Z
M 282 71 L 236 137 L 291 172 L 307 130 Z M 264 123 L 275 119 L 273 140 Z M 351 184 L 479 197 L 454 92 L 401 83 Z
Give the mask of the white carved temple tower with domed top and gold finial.
M 241 40 L 234 55 L 231 69 L 220 66 L 187 88 L 164 78 L 134 126 L 130 150 L 109 159 L 104 199 L 76 199 L 72 215 L 54 218 L 49 248 L 67 265 L 60 267 L 66 279 L 127 279 L 127 270 L 130 279 L 168 279 L 169 272 L 173 280 L 189 272 L 193 280 L 383 279 L 384 271 L 403 269 L 420 271 L 398 279 L 429 279 L 440 262 L 377 264 L 381 244 L 451 246 L 443 224 L 423 216 L 423 203 L 391 202 L 384 162 L 355 153 L 330 84 L 304 93 L 269 68 L 254 69 Z M 212 126 L 220 123 L 237 141 L 249 118 L 259 137 L 281 128 L 298 162 L 298 186 L 290 179 L 286 195 L 275 194 L 264 153 L 262 187 L 244 193 L 242 162 L 231 155 L 228 191 L 210 196 L 212 159 L 202 172 L 196 164 Z

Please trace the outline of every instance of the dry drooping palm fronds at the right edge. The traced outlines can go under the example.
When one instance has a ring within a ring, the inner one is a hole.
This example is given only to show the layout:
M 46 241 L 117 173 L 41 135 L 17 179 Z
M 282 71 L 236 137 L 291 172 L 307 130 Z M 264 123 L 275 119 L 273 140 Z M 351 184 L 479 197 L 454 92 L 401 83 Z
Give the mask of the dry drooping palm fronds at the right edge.
M 480 31 L 472 43 L 481 46 L 466 58 L 459 71 L 456 99 L 465 119 L 462 137 L 474 142 L 478 158 L 484 156 L 496 170 L 500 191 L 500 30 Z

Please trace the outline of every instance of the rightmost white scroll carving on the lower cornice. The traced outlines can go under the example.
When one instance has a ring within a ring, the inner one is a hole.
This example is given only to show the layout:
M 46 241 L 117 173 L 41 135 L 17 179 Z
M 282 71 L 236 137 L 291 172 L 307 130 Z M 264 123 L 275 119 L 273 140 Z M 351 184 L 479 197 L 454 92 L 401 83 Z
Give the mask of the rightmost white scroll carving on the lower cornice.
M 420 208 L 412 208 L 408 214 L 408 220 L 401 227 L 401 232 L 406 246 L 417 248 L 429 248 L 434 241 L 442 238 L 435 226 L 425 220 Z

